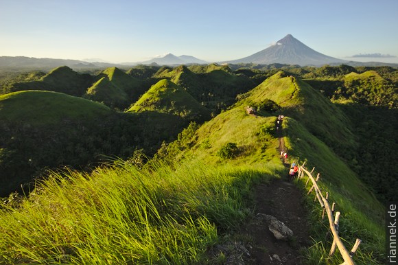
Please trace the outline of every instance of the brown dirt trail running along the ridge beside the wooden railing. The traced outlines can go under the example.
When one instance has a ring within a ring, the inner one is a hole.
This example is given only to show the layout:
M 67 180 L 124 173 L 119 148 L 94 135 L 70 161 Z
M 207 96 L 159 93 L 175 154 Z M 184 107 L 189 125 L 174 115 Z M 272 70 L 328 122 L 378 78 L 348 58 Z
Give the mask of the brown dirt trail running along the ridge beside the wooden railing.
M 277 126 L 279 151 L 287 151 L 283 141 L 282 122 Z M 293 231 L 293 239 L 289 242 L 277 240 L 266 224 L 259 219 L 248 222 L 242 232 L 253 238 L 253 248 L 250 249 L 253 263 L 250 264 L 301 264 L 299 249 L 310 244 L 303 192 L 288 181 L 288 159 L 283 159 L 283 163 L 286 166 L 285 179 L 275 179 L 271 183 L 256 187 L 255 213 L 268 214 L 285 223 Z

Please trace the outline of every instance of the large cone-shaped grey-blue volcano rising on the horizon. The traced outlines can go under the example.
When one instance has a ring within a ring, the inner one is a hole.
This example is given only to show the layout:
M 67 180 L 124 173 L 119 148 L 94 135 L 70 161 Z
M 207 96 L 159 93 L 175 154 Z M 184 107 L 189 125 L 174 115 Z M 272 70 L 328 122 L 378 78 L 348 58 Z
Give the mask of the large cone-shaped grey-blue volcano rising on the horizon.
M 304 43 L 301 43 L 301 41 L 294 38 L 291 34 L 288 34 L 285 38 L 277 41 L 276 44 L 263 49 L 262 51 L 242 59 L 228 61 L 228 63 L 232 64 L 250 62 L 259 65 L 281 63 L 286 65 L 320 66 L 333 63 L 339 64 L 348 61 L 321 54 Z

